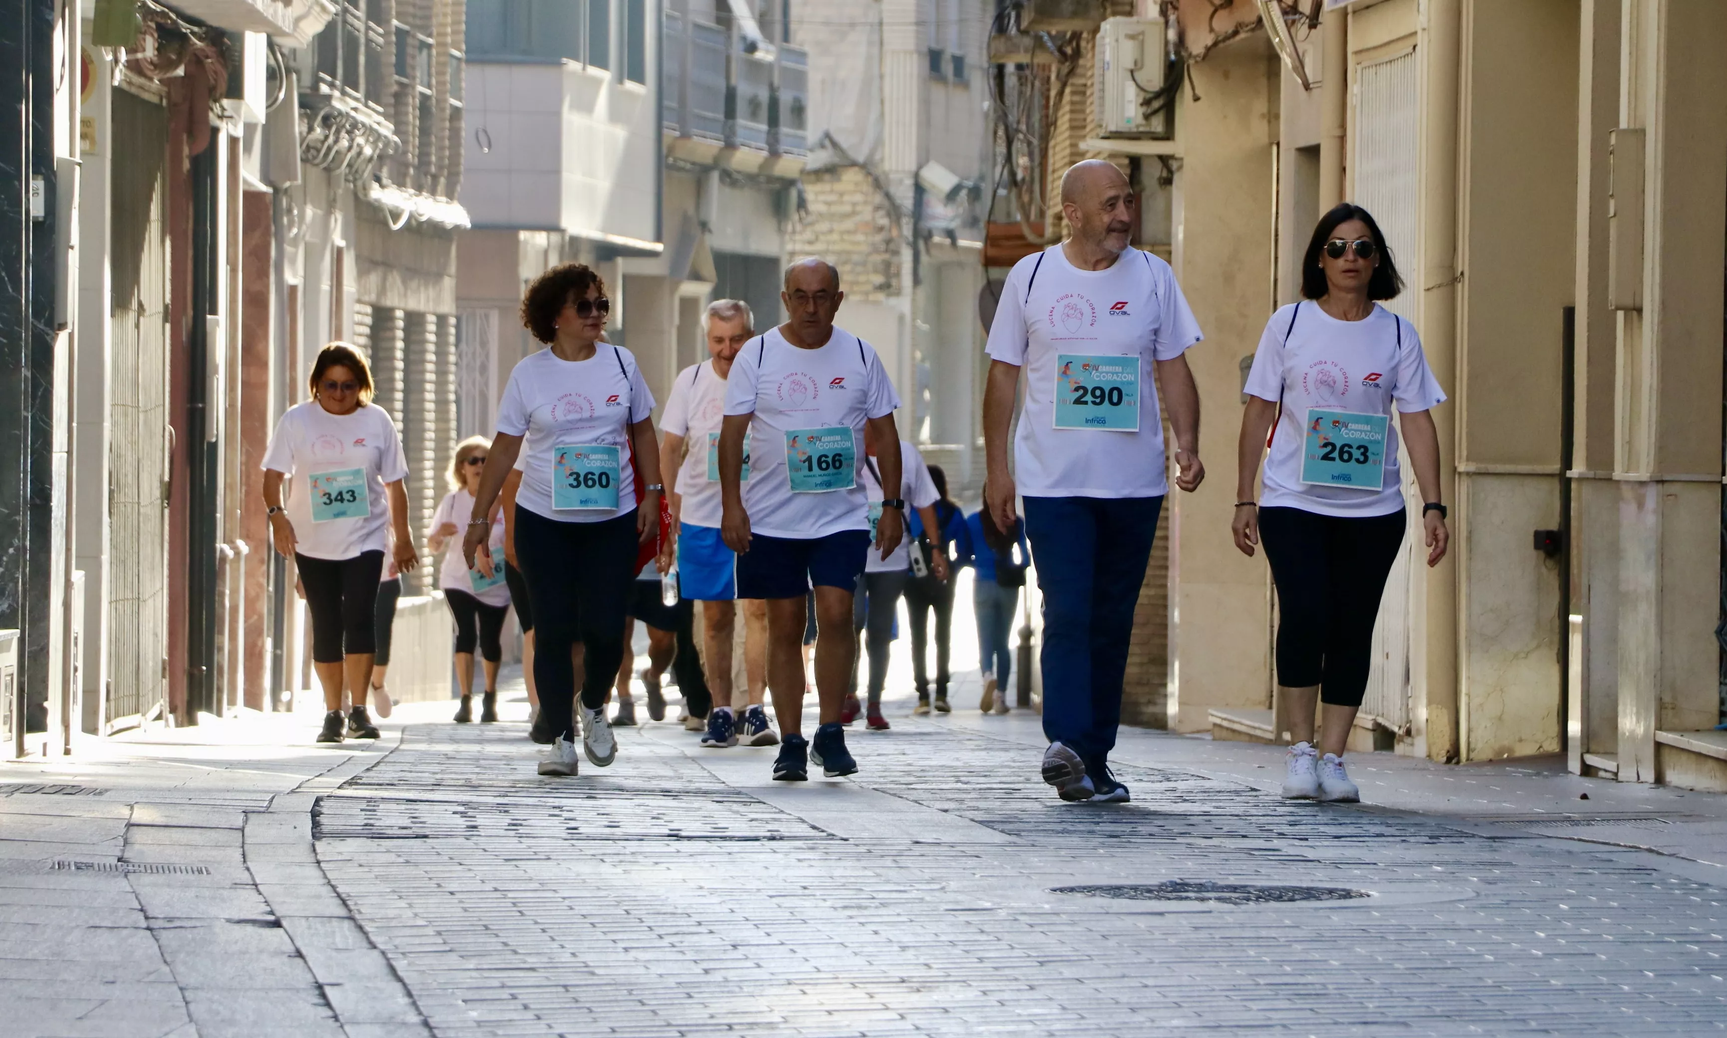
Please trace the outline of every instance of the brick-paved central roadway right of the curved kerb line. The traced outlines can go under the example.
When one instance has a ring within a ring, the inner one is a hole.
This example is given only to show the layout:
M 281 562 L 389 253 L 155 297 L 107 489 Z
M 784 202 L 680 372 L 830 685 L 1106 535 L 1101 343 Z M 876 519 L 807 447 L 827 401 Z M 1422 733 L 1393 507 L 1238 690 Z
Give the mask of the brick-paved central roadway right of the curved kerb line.
M 1727 1029 L 1720 869 L 1188 767 L 1062 805 L 998 720 L 895 717 L 803 786 L 672 724 L 565 781 L 522 724 L 411 725 L 318 798 L 316 858 L 437 1035 Z M 1368 896 L 1053 893 L 1167 881 Z

